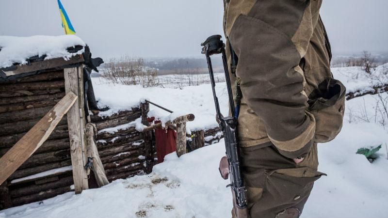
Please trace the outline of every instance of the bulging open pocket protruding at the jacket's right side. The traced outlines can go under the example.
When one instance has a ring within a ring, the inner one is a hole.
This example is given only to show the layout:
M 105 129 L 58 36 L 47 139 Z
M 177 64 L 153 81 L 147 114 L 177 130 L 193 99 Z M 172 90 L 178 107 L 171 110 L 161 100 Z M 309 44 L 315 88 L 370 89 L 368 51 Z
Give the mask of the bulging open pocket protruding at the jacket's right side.
M 315 117 L 315 142 L 333 140 L 341 131 L 345 111 L 345 86 L 326 78 L 308 96 L 309 112 Z

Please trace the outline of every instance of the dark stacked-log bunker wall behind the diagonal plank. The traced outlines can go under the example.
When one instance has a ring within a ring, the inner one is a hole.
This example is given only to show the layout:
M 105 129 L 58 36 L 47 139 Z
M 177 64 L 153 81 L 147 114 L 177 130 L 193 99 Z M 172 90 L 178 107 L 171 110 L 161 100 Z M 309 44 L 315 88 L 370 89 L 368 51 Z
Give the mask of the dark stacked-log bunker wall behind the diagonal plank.
M 63 70 L 1 82 L 0 156 L 12 148 L 63 96 Z M 49 139 L 8 178 L 7 190 L 2 188 L 0 192 L 7 192 L 11 203 L 0 207 L 41 201 L 69 191 L 73 184 L 71 171 L 42 175 L 30 180 L 21 179 L 69 166 L 69 135 L 67 119 L 64 117 Z

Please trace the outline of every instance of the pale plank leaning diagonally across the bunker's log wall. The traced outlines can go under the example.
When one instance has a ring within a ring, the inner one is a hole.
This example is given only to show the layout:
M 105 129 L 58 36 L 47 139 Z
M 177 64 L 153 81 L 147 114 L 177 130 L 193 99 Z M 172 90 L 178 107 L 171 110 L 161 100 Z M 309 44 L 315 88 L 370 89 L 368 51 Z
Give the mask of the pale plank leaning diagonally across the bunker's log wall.
M 17 170 L 48 138 L 65 113 L 76 102 L 77 95 L 67 93 L 36 125 L 0 158 L 0 184 Z

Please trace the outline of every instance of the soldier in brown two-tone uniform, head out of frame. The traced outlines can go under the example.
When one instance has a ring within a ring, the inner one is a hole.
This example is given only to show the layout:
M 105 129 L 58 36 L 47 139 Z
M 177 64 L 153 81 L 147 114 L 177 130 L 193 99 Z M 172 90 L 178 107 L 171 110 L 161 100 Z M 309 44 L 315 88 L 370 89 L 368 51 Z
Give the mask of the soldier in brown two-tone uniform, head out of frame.
M 242 95 L 238 131 L 251 218 L 298 218 L 324 175 L 317 143 L 342 127 L 345 87 L 330 72 L 321 4 L 224 0 L 233 93 Z

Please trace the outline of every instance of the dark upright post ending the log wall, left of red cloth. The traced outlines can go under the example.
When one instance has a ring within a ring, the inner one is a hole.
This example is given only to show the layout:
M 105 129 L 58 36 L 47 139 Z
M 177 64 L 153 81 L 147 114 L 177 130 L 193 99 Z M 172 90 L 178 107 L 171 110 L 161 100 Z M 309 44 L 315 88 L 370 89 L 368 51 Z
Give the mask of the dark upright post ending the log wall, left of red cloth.
M 149 126 L 147 120 L 147 114 L 149 112 L 149 104 L 140 103 L 140 107 L 142 109 L 142 124 Z M 146 173 L 152 172 L 152 167 L 154 166 L 154 152 L 152 145 L 152 133 L 150 131 L 143 132 L 144 134 L 144 144 L 145 144 L 145 156 L 146 156 Z

